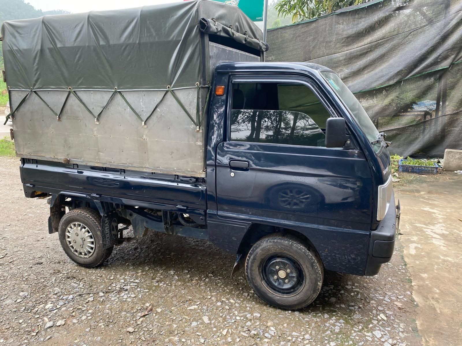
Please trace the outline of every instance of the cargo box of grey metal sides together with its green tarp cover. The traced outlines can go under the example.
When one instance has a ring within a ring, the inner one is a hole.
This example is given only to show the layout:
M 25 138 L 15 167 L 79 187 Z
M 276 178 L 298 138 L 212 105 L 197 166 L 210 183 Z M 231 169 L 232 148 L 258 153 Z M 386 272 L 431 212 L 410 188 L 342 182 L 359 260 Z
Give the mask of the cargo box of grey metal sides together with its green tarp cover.
M 201 18 L 235 35 L 222 42 Z M 7 21 L 1 32 L 18 156 L 193 176 L 204 176 L 212 64 L 267 49 L 239 8 L 208 0 Z

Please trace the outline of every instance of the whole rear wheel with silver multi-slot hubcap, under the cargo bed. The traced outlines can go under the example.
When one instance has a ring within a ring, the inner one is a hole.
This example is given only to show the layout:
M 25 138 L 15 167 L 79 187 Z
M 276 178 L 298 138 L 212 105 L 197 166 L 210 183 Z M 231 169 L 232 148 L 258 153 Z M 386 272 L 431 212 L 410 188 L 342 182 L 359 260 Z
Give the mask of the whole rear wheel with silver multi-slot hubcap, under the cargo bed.
M 83 267 L 97 267 L 111 255 L 103 249 L 101 215 L 90 208 L 77 208 L 65 214 L 59 224 L 59 239 L 66 255 Z

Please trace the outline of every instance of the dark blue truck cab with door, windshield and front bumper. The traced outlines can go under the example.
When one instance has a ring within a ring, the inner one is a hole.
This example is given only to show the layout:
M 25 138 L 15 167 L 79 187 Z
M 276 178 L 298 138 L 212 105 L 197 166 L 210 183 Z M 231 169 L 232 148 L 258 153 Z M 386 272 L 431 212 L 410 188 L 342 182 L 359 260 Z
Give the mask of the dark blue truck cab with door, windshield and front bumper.
M 388 144 L 338 75 L 315 64 L 223 63 L 219 85 L 226 92 L 213 95 L 209 112 L 208 220 L 291 229 L 326 269 L 377 274 L 395 239 Z M 209 237 L 231 251 L 258 238 L 246 234 L 231 248 L 222 231 L 209 228 Z

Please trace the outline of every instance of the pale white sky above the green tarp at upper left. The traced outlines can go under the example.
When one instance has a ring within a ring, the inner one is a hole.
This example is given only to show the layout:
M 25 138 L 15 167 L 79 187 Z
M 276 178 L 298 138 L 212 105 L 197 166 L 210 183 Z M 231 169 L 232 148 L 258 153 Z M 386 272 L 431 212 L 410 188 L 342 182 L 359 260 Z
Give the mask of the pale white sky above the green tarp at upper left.
M 165 4 L 182 0 L 27 0 L 26 2 L 42 11 L 65 10 L 72 13 L 116 10 L 128 7 L 139 7 L 145 5 Z

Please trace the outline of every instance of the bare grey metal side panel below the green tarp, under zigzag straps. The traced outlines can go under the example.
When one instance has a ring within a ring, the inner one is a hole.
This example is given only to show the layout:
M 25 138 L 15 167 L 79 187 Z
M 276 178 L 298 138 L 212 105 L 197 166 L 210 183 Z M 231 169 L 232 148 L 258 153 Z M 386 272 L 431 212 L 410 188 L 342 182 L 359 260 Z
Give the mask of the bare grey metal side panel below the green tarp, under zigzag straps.
M 12 93 L 12 107 L 27 93 Z M 37 92 L 53 109 L 60 109 L 67 91 Z M 99 113 L 111 91 L 77 91 L 80 99 Z M 144 116 L 160 101 L 164 91 L 125 91 L 123 95 Z M 195 109 L 195 89 L 175 90 L 186 109 Z M 146 115 L 147 116 L 147 115 Z M 99 123 L 99 124 L 98 124 Z M 114 95 L 101 117 L 95 119 L 75 98 L 69 97 L 60 121 L 40 98 L 29 95 L 13 119 L 16 152 L 20 157 L 82 165 L 203 176 L 201 128 L 184 114 L 167 94 L 149 119 L 147 127 L 119 95 Z

